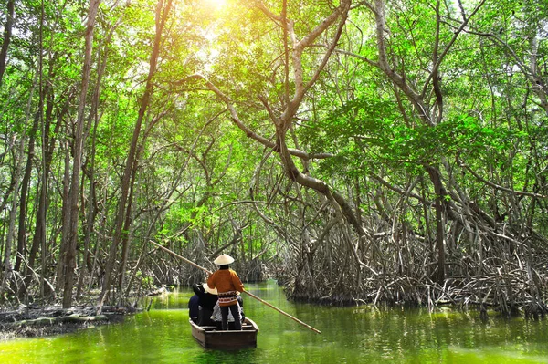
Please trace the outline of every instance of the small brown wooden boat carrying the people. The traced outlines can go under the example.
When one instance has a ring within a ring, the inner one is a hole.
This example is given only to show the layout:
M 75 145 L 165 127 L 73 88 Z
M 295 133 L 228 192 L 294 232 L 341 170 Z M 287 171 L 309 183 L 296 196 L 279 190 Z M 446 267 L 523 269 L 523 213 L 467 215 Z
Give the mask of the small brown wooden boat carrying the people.
M 198 326 L 192 319 L 192 336 L 204 348 L 256 348 L 258 326 L 246 317 L 241 330 L 217 330 L 215 326 Z

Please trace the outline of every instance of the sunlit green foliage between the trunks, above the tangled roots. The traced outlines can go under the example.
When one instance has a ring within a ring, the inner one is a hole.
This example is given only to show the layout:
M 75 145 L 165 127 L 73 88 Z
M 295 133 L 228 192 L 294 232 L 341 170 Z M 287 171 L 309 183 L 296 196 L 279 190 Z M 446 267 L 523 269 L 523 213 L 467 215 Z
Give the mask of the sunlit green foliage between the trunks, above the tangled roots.
M 320 25 L 338 4 L 287 3 L 296 41 Z M 465 15 L 471 14 L 476 3 L 462 4 Z M 264 4 L 279 15 L 283 3 Z M 94 29 L 84 112 L 88 139 L 79 226 L 84 236 L 84 223 L 91 219 L 90 250 L 97 248 L 100 261 L 106 259 L 111 244 L 122 174 L 142 106 L 156 32 L 156 5 L 153 0 L 101 2 Z M 176 235 L 180 246 L 193 244 L 182 231 L 199 233 L 205 249 L 211 251 L 232 239 L 233 224 L 248 226 L 242 244 L 235 247 L 243 250 L 238 254 L 252 257 L 268 241 L 293 249 L 298 245 L 294 241 L 300 244 L 303 230 L 309 228 L 307 224 L 321 232 L 332 215 L 316 213 L 320 199 L 284 176 L 278 153 L 248 138 L 233 122 L 227 105 L 205 89 L 203 82 L 189 78 L 196 73 L 209 78 L 252 132 L 275 140 L 271 116 L 279 117 L 295 90 L 292 54 L 287 55 L 286 64 L 281 23 L 248 1 L 227 1 L 223 8 L 204 1 L 174 1 L 173 5 L 162 34 L 152 97 L 143 116 L 138 162 L 132 166 L 136 174 L 128 230 L 130 260 L 141 254 L 133 246 L 141 246 L 142 239 L 150 236 Z M 5 5 L 0 9 L 4 24 Z M 51 148 L 47 253 L 53 255 L 59 250 L 63 231 L 65 158 L 74 158 L 71 143 L 79 112 L 86 10 L 87 4 L 81 1 L 17 1 L 15 31 L 0 88 L 2 191 L 8 191 L 16 178 L 20 180 L 17 163 L 25 161 L 39 92 L 45 93 L 46 107 L 39 115 L 37 148 L 31 159 L 29 206 L 37 205 L 46 160 L 43 151 Z M 503 214 L 519 205 L 520 212 L 529 213 L 532 226 L 543 226 L 546 221 L 543 202 L 541 207 L 525 198 L 509 202 L 511 196 L 501 198 L 492 185 L 546 194 L 548 107 L 543 95 L 548 84 L 548 5 L 533 0 L 488 0 L 450 43 L 462 16 L 458 3 L 440 3 L 439 9 L 436 3 L 422 0 L 387 3 L 383 39 L 390 71 L 403 78 L 408 88 L 404 90 L 390 78 L 390 72 L 378 67 L 374 14 L 364 3 L 355 3 L 337 49 L 292 120 L 291 148 L 333 154 L 310 161 L 295 157 L 296 165 L 355 200 L 364 220 L 383 215 L 385 221 L 409 224 L 427 236 L 425 226 L 431 216 L 425 211 L 430 213 L 431 206 L 415 200 L 400 202 L 401 195 L 369 177 L 382 175 L 399 187 L 417 176 L 427 176 L 425 166 L 447 162 L 447 170 L 441 172 L 444 186 L 458 186 L 459 192 L 478 201 L 487 213 L 496 215 L 501 210 Z M 305 83 L 321 64 L 334 29 L 326 30 L 303 50 Z M 290 36 L 286 40 L 291 52 Z M 439 89 L 435 90 L 432 71 L 438 59 Z M 103 61 L 104 73 L 99 78 Z M 39 69 L 41 74 L 37 74 Z M 97 113 L 92 107 L 95 92 L 99 95 Z M 424 110 L 419 112 L 411 102 L 410 94 L 421 99 L 428 117 L 434 115 L 430 122 L 421 114 Z M 438 97 L 443 100 L 442 108 Z M 49 140 L 44 140 L 46 135 Z M 489 184 L 471 177 L 459 163 Z M 95 188 L 93 195 L 90 183 Z M 290 237 L 280 237 L 264 223 L 248 201 L 250 188 L 263 203 L 260 212 L 271 220 L 269 224 L 283 226 Z M 427 200 L 435 197 L 427 182 L 413 185 L 410 192 Z M 3 193 L 0 198 L 7 205 L 19 196 Z M 88 215 L 90 205 L 95 209 L 92 216 Z M 393 205 L 398 208 L 390 211 Z M 9 227 L 8 214 L 2 218 L 2 231 Z M 35 233 L 36 220 L 33 211 L 27 217 L 29 236 Z M 278 253 L 280 246 L 272 244 L 265 257 Z M 148 278 L 139 279 L 143 286 L 152 284 Z

